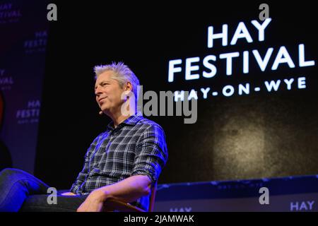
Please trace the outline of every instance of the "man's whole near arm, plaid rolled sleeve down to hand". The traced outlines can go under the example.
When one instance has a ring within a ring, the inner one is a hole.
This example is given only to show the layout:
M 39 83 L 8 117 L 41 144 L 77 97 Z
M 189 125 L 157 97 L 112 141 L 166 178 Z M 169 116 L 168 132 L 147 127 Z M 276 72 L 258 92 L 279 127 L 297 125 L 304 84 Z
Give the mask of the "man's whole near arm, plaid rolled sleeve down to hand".
M 149 125 L 139 139 L 131 177 L 109 186 L 95 189 L 78 211 L 101 211 L 107 198 L 114 197 L 130 203 L 151 192 L 151 184 L 159 177 L 167 161 L 165 134 L 158 125 Z

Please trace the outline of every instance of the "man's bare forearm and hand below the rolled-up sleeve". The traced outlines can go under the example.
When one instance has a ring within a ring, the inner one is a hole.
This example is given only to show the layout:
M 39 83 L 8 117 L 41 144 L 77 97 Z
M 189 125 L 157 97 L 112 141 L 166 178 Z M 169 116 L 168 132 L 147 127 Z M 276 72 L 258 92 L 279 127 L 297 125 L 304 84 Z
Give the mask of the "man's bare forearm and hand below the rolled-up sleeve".
M 151 192 L 151 179 L 135 175 L 109 186 L 102 186 L 90 193 L 77 209 L 78 212 L 100 212 L 107 198 L 117 198 L 125 203 L 136 201 Z

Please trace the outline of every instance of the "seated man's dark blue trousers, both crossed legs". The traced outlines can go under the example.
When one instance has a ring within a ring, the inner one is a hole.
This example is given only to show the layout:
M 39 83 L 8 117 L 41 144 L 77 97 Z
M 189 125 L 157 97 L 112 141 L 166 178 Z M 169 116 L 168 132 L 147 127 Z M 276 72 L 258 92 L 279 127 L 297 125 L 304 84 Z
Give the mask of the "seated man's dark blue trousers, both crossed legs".
M 57 193 L 52 203 L 49 186 L 20 169 L 3 169 L 0 172 L 0 212 L 74 212 L 86 196 L 62 196 Z M 49 201 L 48 201 L 49 199 Z

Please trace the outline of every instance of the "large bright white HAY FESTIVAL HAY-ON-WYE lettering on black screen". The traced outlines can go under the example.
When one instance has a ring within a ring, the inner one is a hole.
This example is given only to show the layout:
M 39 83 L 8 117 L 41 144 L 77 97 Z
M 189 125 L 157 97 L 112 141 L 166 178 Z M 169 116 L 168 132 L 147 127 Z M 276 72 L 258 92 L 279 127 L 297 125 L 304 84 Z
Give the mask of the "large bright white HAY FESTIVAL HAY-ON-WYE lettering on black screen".
M 265 17 L 266 16 L 264 16 L 264 18 Z M 228 24 L 209 26 L 207 30 L 206 47 L 211 49 L 211 53 L 213 54 L 204 57 L 170 60 L 168 63 L 168 82 L 175 83 L 176 78 L 184 81 L 206 81 L 206 78 L 208 78 L 213 81 L 213 79 L 218 77 L 223 77 L 225 78 L 224 81 L 229 81 L 228 78 L 236 77 L 238 74 L 243 77 L 245 74 L 250 73 L 249 69 L 252 64 L 256 64 L 259 73 L 263 73 L 264 71 L 276 71 L 281 69 L 282 66 L 295 69 L 315 65 L 314 60 L 305 57 L 307 49 L 304 42 L 297 43 L 295 47 L 292 48 L 293 52 L 297 52 L 296 56 L 290 54 L 290 49 L 285 46 L 275 48 L 268 47 L 266 52 L 259 52 L 258 49 L 249 47 L 249 43 L 266 41 L 266 31 L 271 23 L 273 23 L 272 19 L 266 18 L 264 21 L 261 21 L 261 23 L 257 20 L 252 20 L 249 23 L 240 22 L 236 28 L 230 28 Z M 232 37 L 228 35 L 230 29 L 235 29 L 235 33 Z M 257 32 L 258 35 L 256 37 L 252 37 L 252 30 Z M 243 52 L 213 52 L 213 48 L 216 46 L 235 46 L 238 40 L 246 42 L 246 46 L 250 49 Z M 294 51 L 296 49 L 297 51 Z M 269 64 L 270 60 L 273 60 L 272 64 Z M 242 63 L 238 64 L 237 61 L 242 61 Z M 225 64 L 225 67 L 223 67 L 223 64 Z M 201 70 L 202 73 L 199 73 L 199 70 Z M 261 90 L 273 93 L 283 88 L 287 90 L 305 89 L 306 76 L 304 74 L 293 76 L 293 74 L 288 73 L 283 74 L 282 78 L 277 80 L 265 78 L 264 81 L 259 84 L 250 81 L 237 85 L 224 83 L 223 88 L 208 86 L 196 87 L 189 91 L 188 100 L 192 98 L 195 100 L 199 98 L 207 99 L 208 97 L 218 95 L 225 97 L 231 97 L 237 94 L 250 95 Z M 183 92 L 184 90 L 175 91 L 175 95 L 179 97 L 179 100 L 184 100 L 182 97 Z

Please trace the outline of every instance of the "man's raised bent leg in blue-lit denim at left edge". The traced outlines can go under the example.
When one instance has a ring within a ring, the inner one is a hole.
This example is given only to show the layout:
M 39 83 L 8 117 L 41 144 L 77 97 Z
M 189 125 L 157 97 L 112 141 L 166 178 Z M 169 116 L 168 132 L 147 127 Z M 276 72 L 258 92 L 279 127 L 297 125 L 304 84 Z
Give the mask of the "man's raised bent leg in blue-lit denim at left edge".
M 0 172 L 0 212 L 17 212 L 31 194 L 47 194 L 49 186 L 20 169 Z

